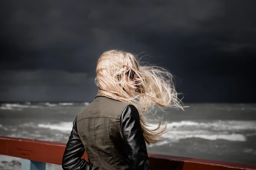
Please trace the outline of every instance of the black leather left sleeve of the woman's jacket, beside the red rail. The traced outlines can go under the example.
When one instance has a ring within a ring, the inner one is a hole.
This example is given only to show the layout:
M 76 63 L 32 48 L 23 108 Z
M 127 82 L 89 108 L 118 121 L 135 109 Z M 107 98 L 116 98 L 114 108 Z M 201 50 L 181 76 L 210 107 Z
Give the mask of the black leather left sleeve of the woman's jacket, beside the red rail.
M 64 170 L 91 170 L 90 164 L 81 159 L 84 155 L 84 145 L 77 132 L 76 119 L 67 142 L 66 149 L 62 158 L 62 168 Z

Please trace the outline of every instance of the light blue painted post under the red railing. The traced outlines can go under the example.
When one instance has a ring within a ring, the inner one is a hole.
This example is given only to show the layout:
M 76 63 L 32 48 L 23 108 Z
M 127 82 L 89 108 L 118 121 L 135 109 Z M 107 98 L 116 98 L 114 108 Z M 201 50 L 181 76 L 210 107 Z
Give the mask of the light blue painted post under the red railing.
M 45 162 L 21 159 L 21 170 L 45 170 Z

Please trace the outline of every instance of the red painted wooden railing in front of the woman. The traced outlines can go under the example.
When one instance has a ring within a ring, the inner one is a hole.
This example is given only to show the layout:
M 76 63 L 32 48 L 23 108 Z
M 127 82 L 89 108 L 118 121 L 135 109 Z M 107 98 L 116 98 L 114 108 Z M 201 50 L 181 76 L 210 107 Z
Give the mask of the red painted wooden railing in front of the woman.
M 29 164 L 30 170 L 33 170 L 31 166 L 34 165 L 37 166 L 36 168 L 40 168 L 40 166 L 45 168 L 43 163 L 40 164 L 37 162 L 61 164 L 65 147 L 66 144 L 64 143 L 0 136 L 0 154 L 22 158 L 22 164 L 26 164 L 26 160 L 28 160 L 27 164 Z M 256 165 L 210 161 L 154 153 L 148 153 L 148 157 L 153 170 L 256 170 Z M 83 158 L 88 160 L 86 153 Z

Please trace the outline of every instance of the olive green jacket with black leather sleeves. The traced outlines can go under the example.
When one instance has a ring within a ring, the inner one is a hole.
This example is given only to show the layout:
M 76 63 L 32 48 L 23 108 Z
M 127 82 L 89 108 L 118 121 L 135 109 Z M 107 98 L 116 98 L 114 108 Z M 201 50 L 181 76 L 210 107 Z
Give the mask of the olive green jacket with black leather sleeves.
M 88 162 L 81 159 L 86 151 Z M 137 108 L 96 96 L 73 122 L 64 170 L 151 170 Z

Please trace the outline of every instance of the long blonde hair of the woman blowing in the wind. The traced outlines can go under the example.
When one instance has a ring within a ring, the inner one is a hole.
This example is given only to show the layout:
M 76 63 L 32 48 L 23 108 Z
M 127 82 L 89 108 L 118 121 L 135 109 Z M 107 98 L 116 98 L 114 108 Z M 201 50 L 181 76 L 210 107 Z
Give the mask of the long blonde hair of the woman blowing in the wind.
M 150 112 L 154 105 L 183 110 L 172 78 L 166 69 L 139 65 L 133 54 L 119 50 L 104 52 L 96 66 L 98 95 L 134 105 L 139 111 L 143 136 L 148 144 L 160 141 L 159 137 L 167 132 L 167 122 L 162 126 L 159 118 L 158 127 L 152 129 L 145 113 Z

